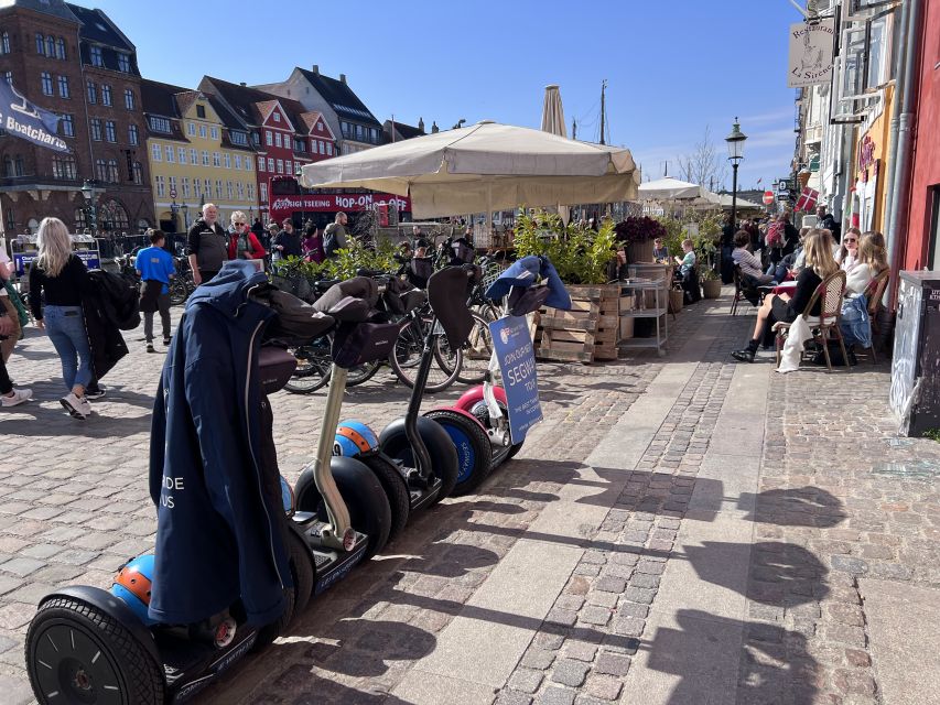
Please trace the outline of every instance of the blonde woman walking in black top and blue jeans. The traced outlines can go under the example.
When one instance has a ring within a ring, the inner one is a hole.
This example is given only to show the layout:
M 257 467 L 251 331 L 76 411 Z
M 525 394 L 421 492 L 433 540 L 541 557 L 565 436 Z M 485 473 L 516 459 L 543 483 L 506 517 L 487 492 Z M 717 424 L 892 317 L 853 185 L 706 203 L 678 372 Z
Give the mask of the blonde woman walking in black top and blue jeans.
M 36 237 L 39 254 L 30 269 L 30 307 L 62 360 L 68 393 L 62 405 L 76 419 L 87 419 L 91 405 L 85 388 L 91 381 L 91 348 L 82 300 L 88 291 L 88 270 L 72 251 L 68 229 L 58 218 L 43 218 Z M 45 294 L 45 307 L 42 296 Z

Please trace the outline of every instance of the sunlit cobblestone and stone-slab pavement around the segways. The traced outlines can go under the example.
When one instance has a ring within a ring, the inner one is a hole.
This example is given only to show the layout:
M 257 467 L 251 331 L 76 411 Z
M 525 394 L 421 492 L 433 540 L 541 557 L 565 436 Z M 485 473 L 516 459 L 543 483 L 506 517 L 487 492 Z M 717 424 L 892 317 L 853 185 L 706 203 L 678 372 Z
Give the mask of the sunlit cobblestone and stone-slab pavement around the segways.
M 666 358 L 540 365 L 545 421 L 514 462 L 415 516 L 202 702 L 938 702 L 940 445 L 895 436 L 886 366 L 734 364 L 752 325 L 702 302 L 670 322 Z M 56 379 L 47 340 L 21 349 L 14 377 Z M 10 702 L 29 701 L 36 599 L 106 586 L 152 545 L 161 362 L 138 345 L 85 425 L 60 413 L 52 382 L 33 386 L 47 401 L 0 412 L 17 458 L 0 469 Z M 381 426 L 403 412 L 404 391 L 380 378 L 347 415 Z M 291 479 L 322 399 L 272 400 Z

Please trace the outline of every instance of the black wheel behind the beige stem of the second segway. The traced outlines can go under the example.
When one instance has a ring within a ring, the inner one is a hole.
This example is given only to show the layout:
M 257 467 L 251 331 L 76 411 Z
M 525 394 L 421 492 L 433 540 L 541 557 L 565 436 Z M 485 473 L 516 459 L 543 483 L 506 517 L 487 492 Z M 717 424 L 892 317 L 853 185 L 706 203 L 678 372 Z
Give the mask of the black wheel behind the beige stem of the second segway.
M 391 530 L 391 508 L 381 482 L 372 471 L 355 458 L 333 456 L 329 467 L 339 495 L 349 510 L 353 528 L 369 538 L 366 560 L 371 558 L 388 543 Z M 304 470 L 298 479 L 296 507 L 300 511 L 312 511 L 321 521 L 329 521 L 326 505 L 316 489 L 313 470 Z

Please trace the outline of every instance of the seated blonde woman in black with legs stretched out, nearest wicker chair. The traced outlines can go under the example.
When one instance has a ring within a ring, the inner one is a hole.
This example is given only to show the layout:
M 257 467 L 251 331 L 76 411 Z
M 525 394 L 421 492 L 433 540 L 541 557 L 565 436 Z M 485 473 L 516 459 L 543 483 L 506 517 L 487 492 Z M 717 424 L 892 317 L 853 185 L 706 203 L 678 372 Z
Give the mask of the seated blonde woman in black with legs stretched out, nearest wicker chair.
M 822 280 L 839 271 L 839 264 L 832 258 L 832 237 L 828 232 L 810 230 L 803 250 L 807 265 L 797 276 L 793 295 L 769 294 L 764 299 L 764 305 L 757 311 L 757 323 L 754 326 L 750 343 L 746 348 L 732 352 L 734 359 L 753 362 L 757 348 L 760 347 L 761 337 L 774 327 L 774 324 L 796 321 L 797 316 L 806 310 Z M 810 311 L 810 315 L 818 316 L 821 307 L 822 301 L 819 300 Z

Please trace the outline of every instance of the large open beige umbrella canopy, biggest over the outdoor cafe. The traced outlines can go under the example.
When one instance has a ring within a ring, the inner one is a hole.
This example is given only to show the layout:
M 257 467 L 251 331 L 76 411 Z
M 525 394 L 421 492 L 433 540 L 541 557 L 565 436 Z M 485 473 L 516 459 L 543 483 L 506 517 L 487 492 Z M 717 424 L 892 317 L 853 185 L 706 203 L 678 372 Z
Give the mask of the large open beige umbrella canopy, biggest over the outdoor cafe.
M 627 149 L 484 121 L 306 164 L 301 184 L 411 197 L 415 218 L 636 198 Z

